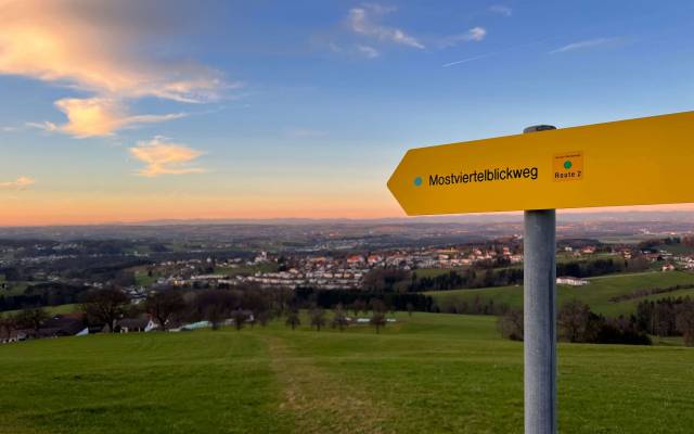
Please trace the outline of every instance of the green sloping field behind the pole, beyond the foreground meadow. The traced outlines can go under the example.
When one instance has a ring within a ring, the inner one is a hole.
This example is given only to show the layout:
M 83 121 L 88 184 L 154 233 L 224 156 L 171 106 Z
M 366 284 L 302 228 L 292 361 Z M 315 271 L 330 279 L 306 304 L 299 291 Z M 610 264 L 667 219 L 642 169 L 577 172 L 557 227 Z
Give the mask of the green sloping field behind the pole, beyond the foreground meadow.
M 630 294 L 637 290 L 668 288 L 678 284 L 694 284 L 694 273 L 684 271 L 672 272 L 640 272 L 633 275 L 609 275 L 590 278 L 590 284 L 586 286 L 557 285 L 558 303 L 565 303 L 571 298 L 581 299 L 595 312 L 605 316 L 629 315 L 634 311 L 639 302 L 644 298 L 656 299 L 667 296 L 692 295 L 694 289 L 677 292 L 651 295 L 647 297 L 629 299 L 620 303 L 611 302 L 609 298 Z M 513 307 L 523 307 L 523 286 L 486 288 L 479 290 L 454 290 L 427 292 L 441 307 L 450 304 L 467 302 L 476 297 L 483 303 L 493 299 L 494 304 L 505 304 Z

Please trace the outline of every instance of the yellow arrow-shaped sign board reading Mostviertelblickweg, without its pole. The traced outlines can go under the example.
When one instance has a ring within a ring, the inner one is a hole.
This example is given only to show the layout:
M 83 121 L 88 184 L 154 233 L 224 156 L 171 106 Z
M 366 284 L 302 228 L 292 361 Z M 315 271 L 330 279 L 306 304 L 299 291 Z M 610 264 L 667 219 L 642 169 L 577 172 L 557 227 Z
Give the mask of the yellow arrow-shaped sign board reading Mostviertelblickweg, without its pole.
M 408 215 L 694 202 L 694 112 L 408 151 Z

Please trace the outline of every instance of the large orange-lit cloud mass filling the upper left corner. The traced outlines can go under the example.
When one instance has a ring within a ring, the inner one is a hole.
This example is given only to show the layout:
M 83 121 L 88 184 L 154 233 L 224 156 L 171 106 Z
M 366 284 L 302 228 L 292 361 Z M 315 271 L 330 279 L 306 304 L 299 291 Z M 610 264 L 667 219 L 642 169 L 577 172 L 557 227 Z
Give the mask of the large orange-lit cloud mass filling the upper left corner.
M 118 13 L 110 14 L 89 2 L 2 3 L 0 74 L 91 93 L 57 101 L 55 105 L 68 123 L 49 130 L 76 137 L 107 136 L 134 123 L 170 120 L 177 115 L 129 115 L 126 105 L 144 97 L 209 102 L 230 86 L 220 73 L 204 65 L 163 62 L 147 55 L 141 47 L 156 44 L 163 39 L 157 31 L 166 26 L 133 25 L 137 11 L 130 9 L 139 8 L 138 3 L 125 4 Z M 157 15 L 156 20 L 165 17 Z

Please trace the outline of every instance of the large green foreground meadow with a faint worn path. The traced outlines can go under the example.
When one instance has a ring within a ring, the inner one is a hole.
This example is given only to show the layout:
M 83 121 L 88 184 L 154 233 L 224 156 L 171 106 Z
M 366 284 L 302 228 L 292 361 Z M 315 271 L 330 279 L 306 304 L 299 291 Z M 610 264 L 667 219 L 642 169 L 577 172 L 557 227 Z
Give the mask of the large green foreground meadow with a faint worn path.
M 1 433 L 519 433 L 523 346 L 491 317 L 0 346 Z M 694 349 L 561 344 L 560 432 L 690 433 Z

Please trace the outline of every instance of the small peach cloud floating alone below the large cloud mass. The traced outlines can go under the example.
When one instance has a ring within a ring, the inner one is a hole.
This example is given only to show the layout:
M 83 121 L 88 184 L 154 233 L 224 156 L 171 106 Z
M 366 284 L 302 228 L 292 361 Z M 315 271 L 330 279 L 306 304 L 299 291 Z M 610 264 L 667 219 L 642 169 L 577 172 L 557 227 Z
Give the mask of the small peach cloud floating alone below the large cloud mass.
M 164 137 L 155 137 L 149 141 L 140 141 L 130 148 L 130 155 L 145 164 L 138 175 L 155 178 L 159 175 L 201 174 L 205 171 L 195 167 L 195 162 L 203 153 L 185 144 L 174 143 Z

